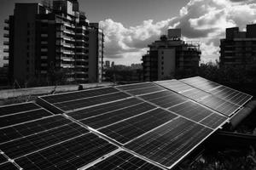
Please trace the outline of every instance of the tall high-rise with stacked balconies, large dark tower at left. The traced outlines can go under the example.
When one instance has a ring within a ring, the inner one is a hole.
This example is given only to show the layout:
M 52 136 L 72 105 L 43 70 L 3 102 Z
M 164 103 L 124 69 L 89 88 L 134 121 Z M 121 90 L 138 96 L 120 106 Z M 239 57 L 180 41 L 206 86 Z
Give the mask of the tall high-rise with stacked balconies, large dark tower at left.
M 9 31 L 9 78 L 24 83 L 62 71 L 67 82 L 101 82 L 103 31 L 89 23 L 77 0 L 15 3 Z

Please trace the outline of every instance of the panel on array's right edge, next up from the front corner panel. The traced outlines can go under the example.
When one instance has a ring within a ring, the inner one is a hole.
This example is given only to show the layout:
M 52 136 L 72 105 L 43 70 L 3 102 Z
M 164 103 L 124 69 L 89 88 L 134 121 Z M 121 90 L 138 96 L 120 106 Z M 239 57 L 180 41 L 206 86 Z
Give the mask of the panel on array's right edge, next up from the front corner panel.
M 181 105 L 173 106 L 169 111 L 173 111 L 177 113 L 177 115 L 184 116 L 189 120 L 200 122 L 201 124 L 213 129 L 219 127 L 228 119 L 226 116 L 221 116 L 215 111 L 211 111 L 192 101 L 187 101 Z

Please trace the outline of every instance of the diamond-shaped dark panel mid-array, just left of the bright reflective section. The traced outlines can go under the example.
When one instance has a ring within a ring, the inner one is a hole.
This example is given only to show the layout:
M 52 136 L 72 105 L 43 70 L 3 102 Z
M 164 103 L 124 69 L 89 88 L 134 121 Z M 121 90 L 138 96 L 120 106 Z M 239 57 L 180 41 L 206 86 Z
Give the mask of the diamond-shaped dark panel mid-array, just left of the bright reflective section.
M 180 94 L 176 94 L 174 92 L 167 91 L 167 90 L 154 93 L 154 94 L 146 94 L 140 97 L 142 99 L 145 99 L 149 102 L 154 103 L 155 105 L 159 105 L 164 108 L 172 107 L 173 105 L 177 105 L 188 100 L 188 99 L 185 99 Z

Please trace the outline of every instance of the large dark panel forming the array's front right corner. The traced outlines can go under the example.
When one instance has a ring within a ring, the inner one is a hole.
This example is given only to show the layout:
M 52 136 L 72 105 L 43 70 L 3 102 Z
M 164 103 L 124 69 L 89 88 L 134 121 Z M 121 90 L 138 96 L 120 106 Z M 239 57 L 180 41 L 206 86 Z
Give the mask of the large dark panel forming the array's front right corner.
M 179 117 L 125 147 L 163 166 L 172 167 L 210 133 L 211 129 Z

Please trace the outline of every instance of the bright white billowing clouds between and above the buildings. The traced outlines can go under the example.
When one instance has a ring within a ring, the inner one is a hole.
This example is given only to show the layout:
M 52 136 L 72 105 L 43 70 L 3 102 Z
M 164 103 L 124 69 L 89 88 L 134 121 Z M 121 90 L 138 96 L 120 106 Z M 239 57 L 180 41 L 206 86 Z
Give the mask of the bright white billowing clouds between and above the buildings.
M 166 34 L 168 28 L 182 28 L 183 37 L 201 41 L 201 59 L 218 59 L 219 39 L 225 28 L 241 30 L 256 22 L 256 0 L 190 0 L 177 17 L 169 20 L 144 20 L 139 26 L 125 27 L 111 19 L 101 21 L 106 35 L 105 56 L 124 64 L 141 62 L 149 43 Z

